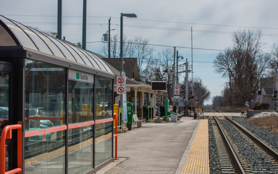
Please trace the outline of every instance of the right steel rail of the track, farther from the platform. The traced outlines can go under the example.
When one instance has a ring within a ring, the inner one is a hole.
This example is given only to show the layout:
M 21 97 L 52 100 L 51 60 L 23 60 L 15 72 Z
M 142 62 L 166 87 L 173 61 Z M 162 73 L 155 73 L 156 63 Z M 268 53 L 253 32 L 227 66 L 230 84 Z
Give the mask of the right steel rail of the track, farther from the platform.
M 216 111 L 218 111 L 217 109 L 215 109 Z M 220 112 L 220 111 L 218 111 Z M 223 114 L 222 112 L 220 112 L 221 114 Z M 251 138 L 253 141 L 257 142 L 260 146 L 264 147 L 270 154 L 272 154 L 275 158 L 278 159 L 278 153 L 275 152 L 273 149 L 271 149 L 269 146 L 267 146 L 265 143 L 263 143 L 262 141 L 260 141 L 258 138 L 256 138 L 255 136 L 253 136 L 251 133 L 249 133 L 248 131 L 246 131 L 244 128 L 242 128 L 241 126 L 239 126 L 237 123 L 235 123 L 234 121 L 232 121 L 229 117 L 227 117 L 225 114 L 223 114 L 225 116 L 226 119 L 228 119 L 230 122 L 232 122 L 237 128 L 239 128 L 245 135 L 247 135 L 249 138 Z

